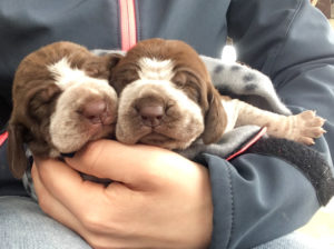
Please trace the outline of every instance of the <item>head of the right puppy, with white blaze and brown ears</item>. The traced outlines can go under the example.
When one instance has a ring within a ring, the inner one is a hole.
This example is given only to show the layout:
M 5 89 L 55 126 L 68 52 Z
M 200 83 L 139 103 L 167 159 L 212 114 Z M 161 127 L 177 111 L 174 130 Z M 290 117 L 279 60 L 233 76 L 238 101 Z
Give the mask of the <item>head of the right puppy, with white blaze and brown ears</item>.
M 139 42 L 112 69 L 110 83 L 119 94 L 119 141 L 185 149 L 224 132 L 220 97 L 196 51 L 181 41 Z

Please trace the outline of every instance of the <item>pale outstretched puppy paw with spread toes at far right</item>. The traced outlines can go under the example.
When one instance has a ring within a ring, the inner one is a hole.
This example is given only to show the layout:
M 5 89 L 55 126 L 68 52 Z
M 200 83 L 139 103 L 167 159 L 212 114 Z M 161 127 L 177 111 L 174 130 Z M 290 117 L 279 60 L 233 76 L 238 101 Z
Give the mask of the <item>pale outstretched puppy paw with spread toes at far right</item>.
M 296 116 L 291 116 L 293 119 L 291 139 L 302 142 L 307 146 L 314 145 L 314 139 L 321 137 L 326 131 L 322 128 L 325 119 L 316 116 L 315 111 L 304 111 Z

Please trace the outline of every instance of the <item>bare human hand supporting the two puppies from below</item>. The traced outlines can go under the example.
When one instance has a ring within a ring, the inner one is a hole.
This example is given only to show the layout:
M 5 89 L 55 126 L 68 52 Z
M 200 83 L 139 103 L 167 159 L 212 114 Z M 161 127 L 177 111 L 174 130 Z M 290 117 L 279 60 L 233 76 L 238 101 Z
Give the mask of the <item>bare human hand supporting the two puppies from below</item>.
M 81 171 L 112 179 L 107 187 Z M 206 248 L 213 227 L 207 169 L 168 150 L 111 140 L 66 163 L 36 158 L 41 209 L 94 248 Z

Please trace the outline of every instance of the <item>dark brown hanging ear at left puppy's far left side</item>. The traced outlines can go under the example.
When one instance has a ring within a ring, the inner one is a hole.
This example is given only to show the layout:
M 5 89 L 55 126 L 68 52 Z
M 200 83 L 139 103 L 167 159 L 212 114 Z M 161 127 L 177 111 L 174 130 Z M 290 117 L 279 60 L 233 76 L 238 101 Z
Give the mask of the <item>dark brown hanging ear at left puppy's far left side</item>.
M 13 177 L 21 178 L 27 169 L 27 158 L 23 143 L 24 128 L 21 124 L 8 126 L 7 158 Z

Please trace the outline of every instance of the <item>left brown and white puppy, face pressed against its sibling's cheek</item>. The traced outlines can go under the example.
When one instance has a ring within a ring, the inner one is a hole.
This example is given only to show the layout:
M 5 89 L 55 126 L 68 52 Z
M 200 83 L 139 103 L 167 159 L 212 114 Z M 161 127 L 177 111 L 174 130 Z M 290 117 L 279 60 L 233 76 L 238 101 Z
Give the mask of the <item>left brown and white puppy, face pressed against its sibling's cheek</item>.
M 8 160 L 14 177 L 27 167 L 24 145 L 36 156 L 56 158 L 114 133 L 118 98 L 108 78 L 118 59 L 61 41 L 21 61 L 8 126 Z

